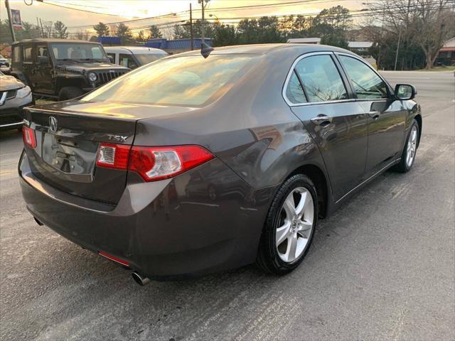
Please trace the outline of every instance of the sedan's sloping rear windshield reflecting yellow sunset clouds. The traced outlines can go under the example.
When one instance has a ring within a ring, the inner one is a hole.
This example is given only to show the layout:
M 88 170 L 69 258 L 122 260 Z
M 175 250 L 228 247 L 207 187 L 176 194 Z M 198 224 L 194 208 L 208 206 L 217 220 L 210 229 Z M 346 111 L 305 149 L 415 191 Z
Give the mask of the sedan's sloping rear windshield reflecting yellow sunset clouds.
M 82 101 L 201 106 L 223 95 L 258 55 L 164 58 L 90 92 Z

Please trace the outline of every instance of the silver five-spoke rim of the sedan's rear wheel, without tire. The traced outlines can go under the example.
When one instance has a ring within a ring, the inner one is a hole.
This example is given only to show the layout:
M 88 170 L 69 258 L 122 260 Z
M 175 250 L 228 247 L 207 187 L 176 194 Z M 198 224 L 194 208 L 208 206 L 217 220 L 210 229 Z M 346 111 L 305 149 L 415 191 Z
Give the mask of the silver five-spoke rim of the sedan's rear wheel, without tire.
M 284 200 L 275 234 L 282 261 L 290 263 L 304 253 L 313 232 L 314 202 L 304 187 L 295 188 Z

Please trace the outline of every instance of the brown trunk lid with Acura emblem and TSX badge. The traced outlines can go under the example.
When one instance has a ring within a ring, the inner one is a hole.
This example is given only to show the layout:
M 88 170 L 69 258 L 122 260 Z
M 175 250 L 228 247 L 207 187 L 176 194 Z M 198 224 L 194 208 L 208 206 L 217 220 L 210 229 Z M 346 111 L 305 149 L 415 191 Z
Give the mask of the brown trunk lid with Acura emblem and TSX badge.
M 97 167 L 97 151 L 102 143 L 133 144 L 140 117 L 129 109 L 112 104 L 26 109 L 26 125 L 36 132 L 36 148 L 26 147 L 33 174 L 66 193 L 116 204 L 127 171 Z

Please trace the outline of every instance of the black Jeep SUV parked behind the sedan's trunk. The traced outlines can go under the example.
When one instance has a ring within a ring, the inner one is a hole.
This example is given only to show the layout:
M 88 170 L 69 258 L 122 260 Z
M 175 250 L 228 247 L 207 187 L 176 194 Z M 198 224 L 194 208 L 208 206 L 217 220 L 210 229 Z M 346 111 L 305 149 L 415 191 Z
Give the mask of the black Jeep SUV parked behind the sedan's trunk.
M 40 38 L 12 45 L 11 75 L 36 96 L 72 99 L 127 71 L 109 62 L 100 43 Z

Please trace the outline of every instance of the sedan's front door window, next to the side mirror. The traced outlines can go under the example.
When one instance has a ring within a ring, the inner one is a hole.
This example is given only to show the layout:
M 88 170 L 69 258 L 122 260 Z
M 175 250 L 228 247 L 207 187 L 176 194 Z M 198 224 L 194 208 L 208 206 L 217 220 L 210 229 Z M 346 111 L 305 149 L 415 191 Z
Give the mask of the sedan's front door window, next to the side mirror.
M 338 58 L 348 72 L 357 98 L 378 99 L 388 97 L 387 85 L 368 65 L 346 55 L 340 55 Z

